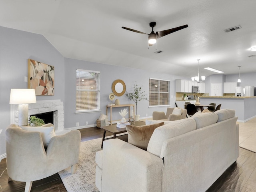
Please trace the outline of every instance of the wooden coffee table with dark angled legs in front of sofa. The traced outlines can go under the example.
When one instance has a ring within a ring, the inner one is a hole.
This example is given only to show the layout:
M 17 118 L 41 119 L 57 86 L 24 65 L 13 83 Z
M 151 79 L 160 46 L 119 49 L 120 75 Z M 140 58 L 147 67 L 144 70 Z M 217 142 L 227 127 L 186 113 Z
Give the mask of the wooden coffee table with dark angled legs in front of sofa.
M 145 122 L 136 121 L 136 122 L 135 122 L 135 125 L 136 125 L 136 126 L 145 125 Z M 102 136 L 101 148 L 103 148 L 103 141 L 104 141 L 104 140 L 113 139 L 113 138 L 115 139 L 115 138 L 116 138 L 116 134 L 120 134 L 120 133 L 125 133 L 125 132 L 127 132 L 127 131 L 126 131 L 126 128 L 118 128 L 118 127 L 116 127 L 116 124 L 109 125 L 109 126 L 100 126 L 100 128 L 101 128 L 102 130 L 104 130 L 104 133 L 103 133 L 103 136 Z M 105 138 L 105 136 L 106 136 L 106 131 L 112 133 L 112 134 L 113 134 L 113 137 L 111 137 L 111 138 Z

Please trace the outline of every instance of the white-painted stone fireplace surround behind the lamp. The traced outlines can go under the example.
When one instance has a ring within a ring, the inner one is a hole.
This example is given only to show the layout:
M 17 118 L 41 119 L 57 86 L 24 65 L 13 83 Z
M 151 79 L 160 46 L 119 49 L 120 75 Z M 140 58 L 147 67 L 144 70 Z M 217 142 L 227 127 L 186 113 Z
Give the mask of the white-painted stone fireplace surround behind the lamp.
M 10 108 L 11 124 L 18 124 L 18 105 L 12 104 Z M 42 100 L 28 105 L 28 115 L 53 112 L 53 124 L 56 132 L 64 130 L 64 107 L 60 100 Z

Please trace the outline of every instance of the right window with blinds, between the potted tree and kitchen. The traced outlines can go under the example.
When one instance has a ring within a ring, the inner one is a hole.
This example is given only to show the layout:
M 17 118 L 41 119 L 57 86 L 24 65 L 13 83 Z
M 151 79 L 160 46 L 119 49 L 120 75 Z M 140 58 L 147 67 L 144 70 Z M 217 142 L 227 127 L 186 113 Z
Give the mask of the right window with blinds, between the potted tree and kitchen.
M 149 106 L 170 105 L 170 81 L 149 79 Z

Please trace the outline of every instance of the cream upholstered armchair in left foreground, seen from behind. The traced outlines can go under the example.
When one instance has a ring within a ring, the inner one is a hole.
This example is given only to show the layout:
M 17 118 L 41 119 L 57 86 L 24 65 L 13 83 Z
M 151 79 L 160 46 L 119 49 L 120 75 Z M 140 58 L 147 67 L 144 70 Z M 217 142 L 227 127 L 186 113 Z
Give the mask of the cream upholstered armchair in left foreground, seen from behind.
M 45 149 L 40 132 L 22 130 L 11 124 L 6 129 L 8 176 L 13 180 L 26 182 L 25 192 L 30 192 L 35 180 L 51 176 L 69 166 L 74 173 L 80 141 L 80 131 L 72 130 L 53 136 Z

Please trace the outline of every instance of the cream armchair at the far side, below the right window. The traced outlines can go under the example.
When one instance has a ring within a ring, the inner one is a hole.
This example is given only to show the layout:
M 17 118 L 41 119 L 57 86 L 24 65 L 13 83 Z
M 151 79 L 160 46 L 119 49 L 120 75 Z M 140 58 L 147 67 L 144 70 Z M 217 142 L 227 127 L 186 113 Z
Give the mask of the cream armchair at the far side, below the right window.
M 187 114 L 187 110 L 182 109 L 182 108 L 179 108 L 179 109 L 182 110 L 181 115 L 172 114 L 174 108 L 168 107 L 167 110 L 166 110 L 166 114 L 164 112 L 154 111 L 153 114 L 152 114 L 152 118 L 153 118 L 153 120 L 169 120 L 169 121 L 185 119 L 186 114 Z

